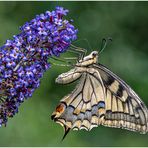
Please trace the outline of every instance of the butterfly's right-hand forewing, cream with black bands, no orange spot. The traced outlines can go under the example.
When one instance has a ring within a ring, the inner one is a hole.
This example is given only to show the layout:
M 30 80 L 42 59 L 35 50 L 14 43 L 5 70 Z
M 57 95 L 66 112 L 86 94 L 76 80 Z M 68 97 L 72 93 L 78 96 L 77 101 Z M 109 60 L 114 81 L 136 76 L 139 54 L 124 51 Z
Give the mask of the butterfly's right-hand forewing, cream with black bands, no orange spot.
M 138 95 L 117 75 L 99 64 L 94 65 L 106 88 L 106 113 L 103 125 L 146 133 L 148 110 Z

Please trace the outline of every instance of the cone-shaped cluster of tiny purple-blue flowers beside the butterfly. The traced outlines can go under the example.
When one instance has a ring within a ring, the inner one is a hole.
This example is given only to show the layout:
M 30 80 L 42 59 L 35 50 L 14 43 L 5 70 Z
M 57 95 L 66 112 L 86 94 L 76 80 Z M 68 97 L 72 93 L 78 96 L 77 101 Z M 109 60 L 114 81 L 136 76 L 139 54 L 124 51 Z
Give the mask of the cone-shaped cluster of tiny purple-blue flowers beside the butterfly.
M 56 7 L 25 23 L 21 33 L 0 47 L 0 126 L 18 112 L 50 68 L 48 58 L 59 56 L 77 38 L 77 30 L 63 19 L 68 10 Z

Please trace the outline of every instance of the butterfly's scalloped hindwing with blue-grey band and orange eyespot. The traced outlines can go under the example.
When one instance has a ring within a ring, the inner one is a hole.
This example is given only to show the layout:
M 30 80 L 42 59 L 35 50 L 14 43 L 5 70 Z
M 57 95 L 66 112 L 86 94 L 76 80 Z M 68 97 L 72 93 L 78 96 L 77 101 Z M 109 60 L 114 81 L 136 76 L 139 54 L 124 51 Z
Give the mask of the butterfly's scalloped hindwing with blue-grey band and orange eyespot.
M 105 113 L 104 99 L 105 88 L 102 80 L 98 81 L 85 73 L 74 91 L 60 101 L 52 119 L 60 123 L 65 130 L 91 130 L 98 126 L 98 119 Z

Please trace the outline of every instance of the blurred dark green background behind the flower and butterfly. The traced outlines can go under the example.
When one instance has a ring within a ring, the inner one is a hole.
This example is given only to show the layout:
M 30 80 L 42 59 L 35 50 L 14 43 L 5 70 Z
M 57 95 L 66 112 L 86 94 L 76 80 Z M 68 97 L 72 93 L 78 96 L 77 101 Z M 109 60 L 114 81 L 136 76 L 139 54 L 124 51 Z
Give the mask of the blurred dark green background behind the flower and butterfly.
M 113 42 L 100 55 L 100 63 L 125 80 L 148 106 L 147 2 L 0 2 L 0 45 L 18 34 L 19 26 L 26 21 L 57 5 L 69 9 L 67 19 L 72 18 L 79 29 L 74 45 L 89 53 L 100 48 L 102 38 L 112 37 Z M 90 132 L 71 131 L 61 143 L 63 129 L 50 115 L 75 86 L 54 82 L 69 69 L 52 66 L 44 74 L 33 97 L 21 105 L 6 128 L 0 128 L 0 146 L 148 146 L 148 134 L 102 126 Z

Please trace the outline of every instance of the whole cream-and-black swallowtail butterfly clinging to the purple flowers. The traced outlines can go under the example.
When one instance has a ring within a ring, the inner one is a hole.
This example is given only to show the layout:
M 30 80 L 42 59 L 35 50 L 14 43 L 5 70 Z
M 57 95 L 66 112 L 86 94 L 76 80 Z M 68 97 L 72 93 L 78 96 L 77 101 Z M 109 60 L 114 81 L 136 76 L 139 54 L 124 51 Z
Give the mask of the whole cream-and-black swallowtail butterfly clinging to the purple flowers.
M 147 107 L 123 80 L 98 63 L 97 51 L 59 75 L 56 82 L 69 84 L 78 79 L 79 84 L 60 101 L 51 116 L 64 127 L 64 137 L 70 129 L 89 131 L 99 125 L 148 131 Z

